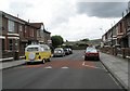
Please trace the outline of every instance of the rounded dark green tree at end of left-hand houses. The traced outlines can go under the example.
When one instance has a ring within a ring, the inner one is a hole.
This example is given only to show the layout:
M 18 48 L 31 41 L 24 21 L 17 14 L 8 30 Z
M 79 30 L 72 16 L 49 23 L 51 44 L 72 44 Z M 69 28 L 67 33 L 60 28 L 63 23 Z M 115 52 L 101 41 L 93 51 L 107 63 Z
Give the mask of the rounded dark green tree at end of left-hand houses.
M 52 46 L 54 48 L 58 47 L 58 46 L 62 46 L 63 44 L 63 38 L 61 36 L 52 36 L 51 37 L 51 40 L 52 40 Z

